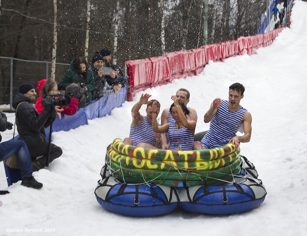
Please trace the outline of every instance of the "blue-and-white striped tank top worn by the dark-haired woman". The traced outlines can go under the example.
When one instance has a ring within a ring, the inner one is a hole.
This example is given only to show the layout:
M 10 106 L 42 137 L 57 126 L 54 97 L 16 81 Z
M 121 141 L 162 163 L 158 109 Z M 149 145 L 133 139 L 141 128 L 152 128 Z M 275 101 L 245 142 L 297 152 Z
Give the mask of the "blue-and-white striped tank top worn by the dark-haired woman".
M 175 143 L 181 144 L 181 150 L 193 150 L 194 136 L 191 130 L 182 127 L 177 129 L 175 122 L 169 123 L 169 130 L 167 131 L 167 138 L 170 141 L 169 150 L 173 150 Z

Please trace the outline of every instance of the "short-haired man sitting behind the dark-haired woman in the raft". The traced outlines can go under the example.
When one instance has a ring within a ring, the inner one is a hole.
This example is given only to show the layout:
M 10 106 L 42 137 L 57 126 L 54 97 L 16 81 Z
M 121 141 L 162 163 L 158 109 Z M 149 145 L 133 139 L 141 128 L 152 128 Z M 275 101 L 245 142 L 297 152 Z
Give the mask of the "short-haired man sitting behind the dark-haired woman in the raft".
M 183 104 L 188 107 L 187 104 L 190 101 L 190 93 L 187 89 L 179 89 L 176 93 L 176 97 L 178 98 L 178 101 L 182 101 Z M 190 111 L 190 114 L 187 115 L 187 119 L 189 121 L 194 120 L 197 122 L 196 110 L 191 107 L 188 107 L 188 110 Z M 161 114 L 161 125 L 171 122 L 175 122 L 175 120 L 173 119 L 169 108 L 165 108 Z M 169 149 L 169 140 L 166 139 L 165 134 L 161 134 L 161 146 L 162 149 Z

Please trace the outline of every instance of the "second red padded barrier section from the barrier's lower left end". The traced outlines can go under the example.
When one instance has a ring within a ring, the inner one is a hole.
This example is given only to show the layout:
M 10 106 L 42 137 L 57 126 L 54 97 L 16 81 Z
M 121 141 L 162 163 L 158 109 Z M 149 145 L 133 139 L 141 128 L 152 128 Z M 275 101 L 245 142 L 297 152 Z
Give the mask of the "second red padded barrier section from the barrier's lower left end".
M 169 61 L 166 56 L 151 57 L 153 84 L 170 79 Z

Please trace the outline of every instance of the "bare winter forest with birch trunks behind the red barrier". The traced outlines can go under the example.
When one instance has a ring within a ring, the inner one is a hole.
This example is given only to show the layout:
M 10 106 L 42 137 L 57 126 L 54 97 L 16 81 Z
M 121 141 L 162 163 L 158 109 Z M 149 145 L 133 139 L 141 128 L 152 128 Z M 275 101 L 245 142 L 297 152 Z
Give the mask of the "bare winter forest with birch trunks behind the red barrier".
M 57 63 L 88 55 L 91 64 L 95 51 L 109 48 L 123 67 L 255 35 L 266 0 L 0 0 L 0 56 L 51 61 L 55 5 Z

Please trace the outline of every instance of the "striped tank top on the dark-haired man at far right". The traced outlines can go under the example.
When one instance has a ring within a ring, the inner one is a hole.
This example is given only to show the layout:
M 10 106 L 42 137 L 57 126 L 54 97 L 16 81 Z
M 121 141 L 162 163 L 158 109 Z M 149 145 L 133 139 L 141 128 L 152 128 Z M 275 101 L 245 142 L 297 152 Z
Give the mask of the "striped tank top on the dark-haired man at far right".
M 235 112 L 228 110 L 228 100 L 222 103 L 210 122 L 210 128 L 201 140 L 201 146 L 207 149 L 220 147 L 229 142 L 238 132 L 243 116 L 247 110 L 240 106 Z

